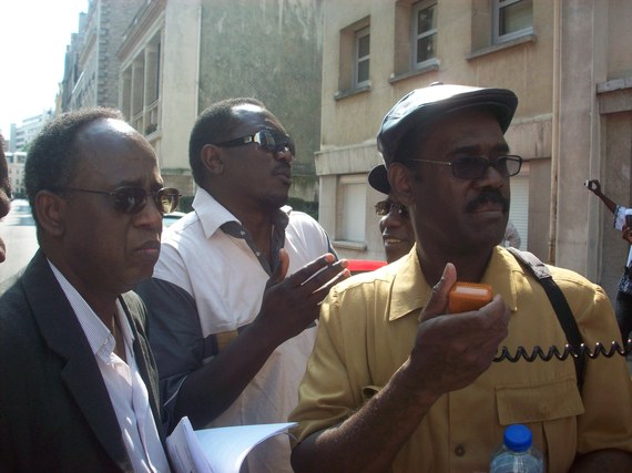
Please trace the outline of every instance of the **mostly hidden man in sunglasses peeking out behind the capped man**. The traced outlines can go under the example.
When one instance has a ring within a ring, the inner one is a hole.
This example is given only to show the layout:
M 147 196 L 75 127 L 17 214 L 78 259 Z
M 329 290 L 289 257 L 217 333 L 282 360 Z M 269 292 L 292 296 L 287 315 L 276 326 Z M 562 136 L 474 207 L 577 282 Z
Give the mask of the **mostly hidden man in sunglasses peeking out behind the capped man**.
M 386 253 L 386 263 L 393 263 L 407 255 L 415 245 L 415 230 L 408 215 L 408 208 L 397 200 L 390 192 L 386 166 L 378 164 L 368 175 L 370 186 L 387 195 L 385 200 L 375 204 L 379 218 L 379 232 Z

